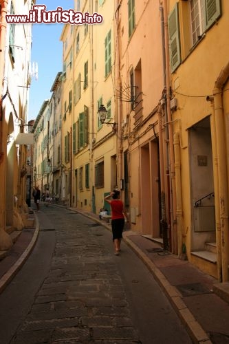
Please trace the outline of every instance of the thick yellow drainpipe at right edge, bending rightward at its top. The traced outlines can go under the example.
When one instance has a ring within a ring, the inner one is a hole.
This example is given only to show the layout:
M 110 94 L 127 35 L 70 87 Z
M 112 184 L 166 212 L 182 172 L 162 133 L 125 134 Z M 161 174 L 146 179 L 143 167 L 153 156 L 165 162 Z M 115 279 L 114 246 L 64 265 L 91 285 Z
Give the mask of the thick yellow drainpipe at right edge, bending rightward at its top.
M 228 281 L 229 264 L 229 226 L 228 226 L 228 178 L 226 157 L 226 132 L 223 114 L 222 92 L 223 86 L 229 77 L 229 63 L 224 67 L 215 82 L 213 89 L 215 103 L 215 129 L 217 135 L 217 155 L 219 173 L 219 215 L 221 223 L 221 261 L 222 281 Z

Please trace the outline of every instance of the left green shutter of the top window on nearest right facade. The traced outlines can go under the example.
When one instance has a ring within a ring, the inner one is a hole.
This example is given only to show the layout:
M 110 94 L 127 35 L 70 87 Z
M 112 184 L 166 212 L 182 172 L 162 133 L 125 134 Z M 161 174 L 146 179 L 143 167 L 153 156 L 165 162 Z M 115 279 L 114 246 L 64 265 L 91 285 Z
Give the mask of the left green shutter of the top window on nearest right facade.
M 168 16 L 168 35 L 170 45 L 171 72 L 174 72 L 181 63 L 180 46 L 179 46 L 179 20 L 178 20 L 178 3 L 176 3 L 171 14 Z

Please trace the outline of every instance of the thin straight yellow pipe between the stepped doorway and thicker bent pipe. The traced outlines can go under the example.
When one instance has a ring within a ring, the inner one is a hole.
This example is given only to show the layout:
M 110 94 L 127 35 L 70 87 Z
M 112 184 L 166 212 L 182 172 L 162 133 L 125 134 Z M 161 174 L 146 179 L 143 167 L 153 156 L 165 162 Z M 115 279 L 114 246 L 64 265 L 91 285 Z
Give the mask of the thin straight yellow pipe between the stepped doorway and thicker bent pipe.
M 213 98 L 213 97 L 212 97 Z M 219 175 L 218 175 L 218 158 L 217 158 L 217 137 L 215 127 L 215 104 L 214 98 L 207 98 L 210 100 L 212 107 L 211 122 L 211 138 L 212 138 L 212 157 L 213 157 L 213 175 L 214 175 L 214 192 L 215 192 L 215 230 L 217 242 L 217 276 L 219 282 L 222 281 L 222 261 L 221 261 L 221 224 L 220 224 L 220 211 L 219 211 Z

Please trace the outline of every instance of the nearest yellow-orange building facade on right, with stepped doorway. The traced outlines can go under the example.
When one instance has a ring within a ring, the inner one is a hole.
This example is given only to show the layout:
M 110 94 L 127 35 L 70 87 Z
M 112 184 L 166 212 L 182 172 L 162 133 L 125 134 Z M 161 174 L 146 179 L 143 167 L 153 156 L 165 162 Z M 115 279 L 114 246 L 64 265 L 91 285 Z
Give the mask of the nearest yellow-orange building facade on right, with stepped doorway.
M 228 1 L 168 1 L 178 253 L 228 281 Z

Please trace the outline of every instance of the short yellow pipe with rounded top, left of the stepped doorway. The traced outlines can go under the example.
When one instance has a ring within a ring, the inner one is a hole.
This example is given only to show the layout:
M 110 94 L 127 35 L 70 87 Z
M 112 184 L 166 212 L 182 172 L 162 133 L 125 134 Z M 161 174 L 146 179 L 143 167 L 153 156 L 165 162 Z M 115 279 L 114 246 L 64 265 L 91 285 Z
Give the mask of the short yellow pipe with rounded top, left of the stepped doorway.
M 173 136 L 174 144 L 174 154 L 175 154 L 175 191 L 176 191 L 176 213 L 177 213 L 177 248 L 179 257 L 182 257 L 184 254 L 183 248 L 183 230 L 182 230 L 182 178 L 181 178 L 181 161 L 180 161 L 180 142 L 179 142 L 179 133 L 174 133 Z

